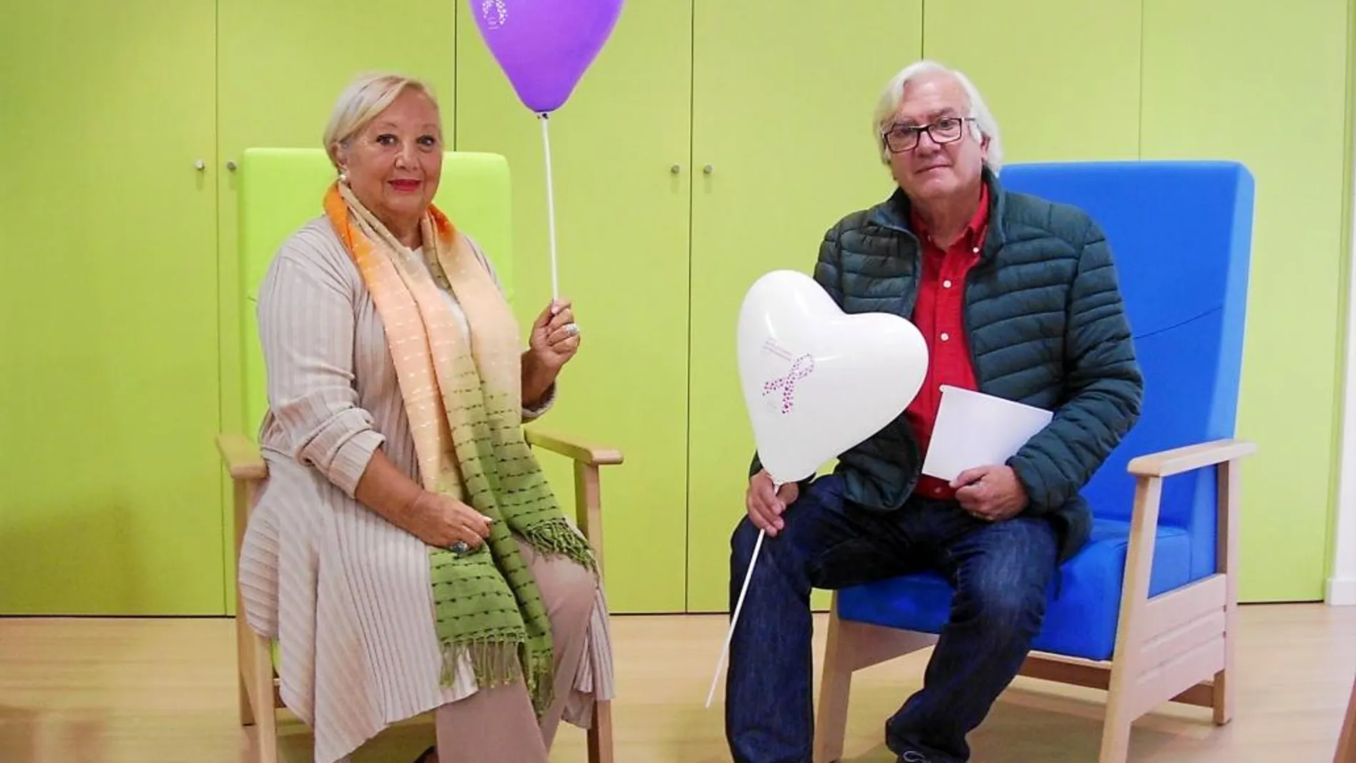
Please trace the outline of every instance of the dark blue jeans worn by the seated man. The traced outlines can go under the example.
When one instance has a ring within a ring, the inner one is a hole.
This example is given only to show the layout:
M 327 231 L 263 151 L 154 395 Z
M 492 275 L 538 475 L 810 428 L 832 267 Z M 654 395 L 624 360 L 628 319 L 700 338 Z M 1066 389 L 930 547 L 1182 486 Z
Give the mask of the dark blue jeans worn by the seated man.
M 848 588 L 923 569 L 955 588 L 951 618 L 923 687 L 885 722 L 896 755 L 933 763 L 970 759 L 965 735 L 1012 683 L 1045 614 L 1056 539 L 1044 519 L 990 523 L 955 501 L 911 497 L 890 514 L 862 510 L 842 480 L 820 477 L 763 538 L 730 645 L 725 737 L 735 763 L 810 763 L 811 588 Z M 758 529 L 747 518 L 731 538 L 730 610 L 749 569 Z

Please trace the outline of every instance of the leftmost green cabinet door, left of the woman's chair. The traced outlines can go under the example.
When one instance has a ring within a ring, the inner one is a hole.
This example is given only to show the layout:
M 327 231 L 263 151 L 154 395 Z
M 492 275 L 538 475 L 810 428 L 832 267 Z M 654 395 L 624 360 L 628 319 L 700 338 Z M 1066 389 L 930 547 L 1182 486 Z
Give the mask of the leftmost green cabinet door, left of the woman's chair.
M 7 5 L 0 614 L 221 613 L 214 23 Z

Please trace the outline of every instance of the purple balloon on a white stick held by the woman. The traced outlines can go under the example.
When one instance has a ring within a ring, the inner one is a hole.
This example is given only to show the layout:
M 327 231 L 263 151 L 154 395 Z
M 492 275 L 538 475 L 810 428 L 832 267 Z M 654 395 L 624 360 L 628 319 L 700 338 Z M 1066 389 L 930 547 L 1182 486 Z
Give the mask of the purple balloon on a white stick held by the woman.
M 622 0 L 468 0 L 480 37 L 522 103 L 560 108 L 602 50 Z

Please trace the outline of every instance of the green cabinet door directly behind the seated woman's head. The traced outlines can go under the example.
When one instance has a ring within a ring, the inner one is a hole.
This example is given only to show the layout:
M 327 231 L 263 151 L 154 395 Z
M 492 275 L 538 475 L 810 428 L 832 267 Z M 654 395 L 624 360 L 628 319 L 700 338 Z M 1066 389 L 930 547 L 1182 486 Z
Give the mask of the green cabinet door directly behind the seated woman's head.
M 389 0 L 380 7 L 361 0 L 218 0 L 217 23 L 221 420 L 226 431 L 252 436 L 259 420 L 247 411 L 245 393 L 250 388 L 258 396 L 264 379 L 260 373 L 247 374 L 243 363 L 250 354 L 255 359 L 250 367 L 263 367 L 254 301 L 241 300 L 241 294 L 258 290 L 258 283 L 245 279 L 260 275 L 244 271 L 237 249 L 241 154 L 247 148 L 320 148 L 339 94 L 358 75 L 374 70 L 428 81 L 438 95 L 450 145 L 456 14 L 450 3 L 435 0 Z M 400 33 L 373 37 L 370 24 Z M 323 192 L 323 184 L 315 188 L 312 206 L 317 215 Z M 233 549 L 229 497 L 224 506 L 222 543 Z M 233 553 L 226 553 L 229 580 L 235 579 L 233 561 Z M 228 610 L 233 609 L 235 596 L 228 596 Z

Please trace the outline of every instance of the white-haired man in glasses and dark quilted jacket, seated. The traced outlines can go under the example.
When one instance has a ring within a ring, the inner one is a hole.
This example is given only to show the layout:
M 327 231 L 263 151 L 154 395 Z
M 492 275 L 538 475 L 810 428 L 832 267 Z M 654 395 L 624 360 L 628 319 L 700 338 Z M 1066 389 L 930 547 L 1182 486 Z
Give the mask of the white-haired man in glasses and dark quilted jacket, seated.
M 998 127 L 964 75 L 919 62 L 887 85 L 877 144 L 899 188 L 824 236 L 815 279 L 849 313 L 926 337 L 909 409 L 831 476 L 776 493 L 754 459 L 731 538 L 731 609 L 766 530 L 730 653 L 736 763 L 811 759 L 811 588 L 933 569 L 956 594 L 922 688 L 887 721 L 907 763 L 970 759 L 965 736 L 1016 676 L 1059 562 L 1088 539 L 1078 491 L 1139 416 L 1143 379 L 1106 241 L 1078 209 L 1003 190 Z M 1054 411 L 1006 463 L 919 473 L 940 386 Z

